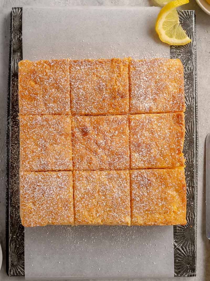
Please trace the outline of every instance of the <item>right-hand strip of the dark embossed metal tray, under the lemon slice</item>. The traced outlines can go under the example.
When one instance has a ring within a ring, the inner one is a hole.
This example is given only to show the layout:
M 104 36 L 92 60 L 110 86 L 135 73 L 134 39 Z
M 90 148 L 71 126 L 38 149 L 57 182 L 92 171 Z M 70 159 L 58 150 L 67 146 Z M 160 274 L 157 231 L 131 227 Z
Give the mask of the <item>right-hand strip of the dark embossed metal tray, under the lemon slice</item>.
M 170 47 L 170 57 L 179 58 L 184 67 L 185 80 L 185 179 L 187 185 L 187 213 L 185 226 L 174 225 L 174 276 L 196 276 L 197 243 L 197 180 L 198 180 L 198 100 L 196 24 L 194 11 L 178 11 L 181 25 L 192 42 Z

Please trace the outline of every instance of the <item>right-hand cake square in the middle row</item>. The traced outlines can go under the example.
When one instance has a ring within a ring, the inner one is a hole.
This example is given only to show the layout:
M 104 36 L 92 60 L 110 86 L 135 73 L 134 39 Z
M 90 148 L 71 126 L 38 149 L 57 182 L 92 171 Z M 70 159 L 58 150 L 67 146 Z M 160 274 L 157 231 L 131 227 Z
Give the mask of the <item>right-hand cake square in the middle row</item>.
M 131 169 L 184 166 L 184 113 L 130 115 Z

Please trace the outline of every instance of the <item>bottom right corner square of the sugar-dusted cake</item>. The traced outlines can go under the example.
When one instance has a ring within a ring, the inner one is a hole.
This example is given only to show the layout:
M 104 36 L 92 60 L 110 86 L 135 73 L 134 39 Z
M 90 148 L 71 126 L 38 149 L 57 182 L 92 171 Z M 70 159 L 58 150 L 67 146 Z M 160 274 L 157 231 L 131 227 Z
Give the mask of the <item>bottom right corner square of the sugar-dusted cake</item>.
M 185 225 L 184 168 L 130 171 L 131 225 Z

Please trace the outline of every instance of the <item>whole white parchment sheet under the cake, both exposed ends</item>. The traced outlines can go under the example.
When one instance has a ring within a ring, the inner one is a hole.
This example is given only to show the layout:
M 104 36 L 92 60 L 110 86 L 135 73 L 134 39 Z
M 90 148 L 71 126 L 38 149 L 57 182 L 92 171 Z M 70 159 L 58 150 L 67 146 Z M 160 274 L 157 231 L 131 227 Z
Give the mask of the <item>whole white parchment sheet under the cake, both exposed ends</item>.
M 155 7 L 23 8 L 23 58 L 169 57 Z M 173 277 L 173 227 L 25 228 L 26 279 Z

